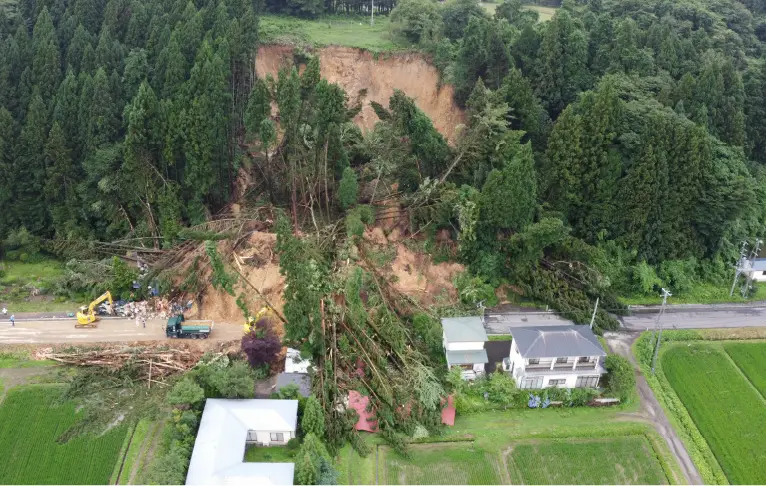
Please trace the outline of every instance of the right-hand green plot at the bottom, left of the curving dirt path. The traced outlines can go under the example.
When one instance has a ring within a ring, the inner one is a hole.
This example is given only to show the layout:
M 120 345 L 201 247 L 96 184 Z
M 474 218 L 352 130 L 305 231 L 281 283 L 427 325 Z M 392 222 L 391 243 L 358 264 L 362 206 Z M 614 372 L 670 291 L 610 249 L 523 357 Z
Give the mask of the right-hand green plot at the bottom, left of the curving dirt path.
M 644 436 L 534 440 L 511 446 L 512 484 L 667 484 Z

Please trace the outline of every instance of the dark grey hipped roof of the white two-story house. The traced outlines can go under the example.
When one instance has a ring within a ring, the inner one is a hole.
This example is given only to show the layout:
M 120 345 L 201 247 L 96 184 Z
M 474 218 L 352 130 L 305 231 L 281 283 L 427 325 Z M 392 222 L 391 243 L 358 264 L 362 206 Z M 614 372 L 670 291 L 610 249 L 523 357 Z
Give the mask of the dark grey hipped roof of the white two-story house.
M 523 358 L 606 356 L 601 343 L 587 326 L 511 328 Z

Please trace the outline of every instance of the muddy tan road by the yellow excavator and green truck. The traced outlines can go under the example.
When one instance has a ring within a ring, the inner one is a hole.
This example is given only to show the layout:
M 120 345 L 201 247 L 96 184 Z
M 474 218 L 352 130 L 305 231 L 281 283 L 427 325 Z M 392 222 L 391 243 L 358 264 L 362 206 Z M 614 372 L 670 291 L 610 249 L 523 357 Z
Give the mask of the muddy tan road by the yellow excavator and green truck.
M 96 329 L 75 329 L 75 320 L 24 320 L 11 327 L 10 322 L 0 322 L 0 345 L 3 344 L 54 344 L 85 342 L 121 342 L 168 340 L 165 337 L 165 320 L 150 320 L 146 328 L 136 327 L 135 320 L 103 319 Z M 242 336 L 242 326 L 216 322 L 210 340 L 228 341 Z

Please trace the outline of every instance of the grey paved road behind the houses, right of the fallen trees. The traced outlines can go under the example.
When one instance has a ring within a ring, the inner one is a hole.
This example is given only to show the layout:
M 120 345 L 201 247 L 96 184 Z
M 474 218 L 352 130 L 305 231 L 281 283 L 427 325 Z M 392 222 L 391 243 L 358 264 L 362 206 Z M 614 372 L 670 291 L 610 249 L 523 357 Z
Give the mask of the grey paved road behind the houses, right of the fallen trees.
M 634 309 L 633 315 L 618 317 L 622 329 L 653 329 L 658 308 Z M 665 329 L 714 329 L 766 326 L 766 306 L 710 305 L 668 306 L 662 316 Z M 554 312 L 521 309 L 487 309 L 484 327 L 489 334 L 508 334 L 511 327 L 561 326 L 571 321 Z

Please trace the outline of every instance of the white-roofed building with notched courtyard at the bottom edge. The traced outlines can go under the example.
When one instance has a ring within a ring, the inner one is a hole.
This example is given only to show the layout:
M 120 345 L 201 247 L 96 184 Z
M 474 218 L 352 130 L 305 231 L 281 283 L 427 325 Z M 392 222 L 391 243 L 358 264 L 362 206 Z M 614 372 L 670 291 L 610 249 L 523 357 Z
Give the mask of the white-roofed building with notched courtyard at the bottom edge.
M 186 484 L 293 484 L 293 463 L 244 462 L 247 444 L 285 445 L 295 437 L 298 400 L 209 398 Z

